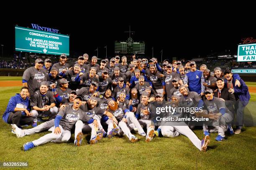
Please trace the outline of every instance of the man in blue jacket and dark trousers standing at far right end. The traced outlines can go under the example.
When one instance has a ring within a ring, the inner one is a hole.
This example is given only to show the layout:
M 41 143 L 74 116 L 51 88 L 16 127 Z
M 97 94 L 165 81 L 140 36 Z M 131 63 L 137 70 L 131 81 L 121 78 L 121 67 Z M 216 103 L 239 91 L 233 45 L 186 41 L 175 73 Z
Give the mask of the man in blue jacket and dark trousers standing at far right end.
M 234 133 L 239 134 L 241 133 L 241 128 L 243 127 L 244 107 L 248 104 L 251 96 L 248 92 L 247 85 L 242 79 L 239 80 L 241 85 L 239 87 L 236 85 L 236 80 L 233 78 L 233 74 L 230 70 L 226 70 L 224 72 L 224 77 L 226 78 L 226 80 L 224 80 L 225 87 L 228 88 L 228 92 L 234 93 L 236 97 L 235 110 L 237 117 L 237 128 Z

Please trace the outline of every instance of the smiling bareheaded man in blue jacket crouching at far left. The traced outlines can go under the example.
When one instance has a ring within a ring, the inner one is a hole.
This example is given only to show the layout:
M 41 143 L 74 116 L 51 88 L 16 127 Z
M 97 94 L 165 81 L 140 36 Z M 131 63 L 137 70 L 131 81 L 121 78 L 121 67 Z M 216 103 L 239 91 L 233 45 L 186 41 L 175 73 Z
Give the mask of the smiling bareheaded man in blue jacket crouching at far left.
M 32 113 L 29 112 L 28 87 L 22 87 L 20 94 L 11 97 L 3 114 L 3 120 L 8 124 L 30 125 L 33 123 Z

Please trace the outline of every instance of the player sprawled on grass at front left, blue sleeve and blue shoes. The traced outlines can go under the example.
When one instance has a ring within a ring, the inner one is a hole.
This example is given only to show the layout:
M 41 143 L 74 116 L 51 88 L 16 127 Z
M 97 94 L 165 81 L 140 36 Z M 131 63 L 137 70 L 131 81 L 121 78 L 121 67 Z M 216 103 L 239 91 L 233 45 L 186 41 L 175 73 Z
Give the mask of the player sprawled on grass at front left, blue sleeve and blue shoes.
M 82 104 L 82 97 L 77 96 L 74 100 L 74 105 L 67 106 L 64 110 L 60 110 L 54 120 L 54 130 L 52 133 L 44 135 L 43 137 L 28 142 L 23 145 L 24 151 L 34 148 L 38 145 L 43 145 L 48 142 L 64 143 L 71 137 L 71 129 L 77 120 L 82 120 L 87 123 L 94 123 L 97 127 L 97 120 L 88 117 L 79 107 Z M 15 129 L 16 130 L 16 129 Z

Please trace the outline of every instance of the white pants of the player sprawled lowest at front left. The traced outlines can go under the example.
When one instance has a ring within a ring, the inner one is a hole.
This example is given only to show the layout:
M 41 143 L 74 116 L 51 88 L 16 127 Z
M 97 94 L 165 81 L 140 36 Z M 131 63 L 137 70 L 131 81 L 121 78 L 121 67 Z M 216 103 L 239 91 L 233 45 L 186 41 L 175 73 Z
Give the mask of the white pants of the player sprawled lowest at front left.
M 54 143 L 64 143 L 67 142 L 71 137 L 71 132 L 69 130 L 64 130 L 61 125 L 59 125 L 59 128 L 61 130 L 61 133 L 55 134 L 54 130 L 52 133 L 49 133 L 47 135 L 42 136 L 41 138 L 37 140 L 33 140 L 32 143 L 35 146 L 43 145 L 48 142 L 54 142 Z M 55 127 L 54 127 L 55 129 Z

